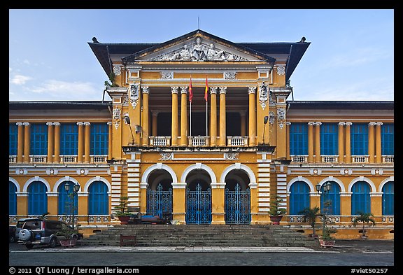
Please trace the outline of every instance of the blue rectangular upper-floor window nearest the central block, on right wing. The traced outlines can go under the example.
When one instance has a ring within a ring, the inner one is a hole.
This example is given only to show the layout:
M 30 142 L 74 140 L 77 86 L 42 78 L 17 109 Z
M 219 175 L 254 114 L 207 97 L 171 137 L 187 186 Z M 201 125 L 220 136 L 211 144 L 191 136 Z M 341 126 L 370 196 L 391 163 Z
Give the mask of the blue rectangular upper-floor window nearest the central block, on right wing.
M 308 125 L 306 123 L 291 123 L 290 155 L 308 155 Z

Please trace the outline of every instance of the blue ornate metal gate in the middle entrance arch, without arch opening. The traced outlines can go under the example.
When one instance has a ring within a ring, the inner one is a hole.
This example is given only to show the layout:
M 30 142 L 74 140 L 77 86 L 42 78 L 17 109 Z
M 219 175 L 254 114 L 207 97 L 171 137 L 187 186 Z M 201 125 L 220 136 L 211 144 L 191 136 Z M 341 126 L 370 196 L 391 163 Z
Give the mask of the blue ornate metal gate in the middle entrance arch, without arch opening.
M 211 189 L 201 191 L 198 183 L 195 191 L 186 189 L 186 223 L 210 224 L 211 223 Z

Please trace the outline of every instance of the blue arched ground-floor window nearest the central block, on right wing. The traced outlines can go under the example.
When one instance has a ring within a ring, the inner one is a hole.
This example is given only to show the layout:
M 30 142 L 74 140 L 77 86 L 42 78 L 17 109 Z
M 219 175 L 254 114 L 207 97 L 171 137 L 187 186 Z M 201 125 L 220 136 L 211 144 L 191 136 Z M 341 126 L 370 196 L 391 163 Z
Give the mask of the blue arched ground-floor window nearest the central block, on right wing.
M 309 185 L 296 181 L 290 186 L 290 215 L 299 215 L 306 207 L 309 207 Z

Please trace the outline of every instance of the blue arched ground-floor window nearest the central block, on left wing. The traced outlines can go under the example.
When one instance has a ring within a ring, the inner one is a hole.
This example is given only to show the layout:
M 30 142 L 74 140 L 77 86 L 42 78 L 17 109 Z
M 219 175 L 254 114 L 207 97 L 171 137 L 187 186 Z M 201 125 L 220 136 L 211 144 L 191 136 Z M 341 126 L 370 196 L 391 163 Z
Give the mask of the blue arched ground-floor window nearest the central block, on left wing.
M 108 186 L 102 181 L 94 181 L 88 188 L 88 214 L 108 215 L 109 198 Z

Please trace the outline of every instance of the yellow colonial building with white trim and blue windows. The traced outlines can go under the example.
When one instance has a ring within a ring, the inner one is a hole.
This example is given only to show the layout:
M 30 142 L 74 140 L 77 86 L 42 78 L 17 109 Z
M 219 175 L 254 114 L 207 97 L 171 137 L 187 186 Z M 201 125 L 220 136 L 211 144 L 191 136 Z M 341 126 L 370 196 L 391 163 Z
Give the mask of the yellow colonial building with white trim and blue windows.
M 309 44 L 93 38 L 110 99 L 9 102 L 10 223 L 73 211 L 82 227 L 113 225 L 127 197 L 178 223 L 269 224 L 278 195 L 281 225 L 309 230 L 299 212 L 331 201 L 338 234 L 357 237 L 361 211 L 372 237 L 393 238 L 394 103 L 292 100 Z

